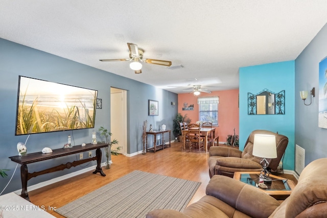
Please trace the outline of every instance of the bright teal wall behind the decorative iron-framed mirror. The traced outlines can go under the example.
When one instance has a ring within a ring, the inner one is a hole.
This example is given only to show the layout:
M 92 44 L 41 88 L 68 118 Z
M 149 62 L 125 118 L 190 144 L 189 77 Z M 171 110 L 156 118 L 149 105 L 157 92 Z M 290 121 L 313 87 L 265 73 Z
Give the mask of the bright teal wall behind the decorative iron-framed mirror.
M 294 170 L 294 77 L 294 61 L 240 68 L 240 150 L 253 130 L 278 131 L 289 138 L 283 161 L 284 169 L 289 170 Z M 247 93 L 258 94 L 264 89 L 274 93 L 285 90 L 285 114 L 248 115 Z

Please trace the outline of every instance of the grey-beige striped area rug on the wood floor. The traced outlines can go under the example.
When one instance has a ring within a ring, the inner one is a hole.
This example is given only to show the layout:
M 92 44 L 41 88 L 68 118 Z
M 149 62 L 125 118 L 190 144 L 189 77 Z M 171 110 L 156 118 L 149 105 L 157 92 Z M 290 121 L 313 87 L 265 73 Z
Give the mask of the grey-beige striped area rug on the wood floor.
M 69 217 L 145 217 L 154 209 L 181 211 L 200 182 L 133 171 L 56 210 Z

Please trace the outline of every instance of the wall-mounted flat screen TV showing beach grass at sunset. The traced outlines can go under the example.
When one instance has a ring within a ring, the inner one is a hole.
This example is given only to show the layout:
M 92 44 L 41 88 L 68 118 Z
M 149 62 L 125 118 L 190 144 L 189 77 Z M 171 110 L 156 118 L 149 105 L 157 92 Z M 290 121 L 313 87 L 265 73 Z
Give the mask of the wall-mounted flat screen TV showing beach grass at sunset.
M 15 135 L 94 128 L 98 91 L 19 76 Z

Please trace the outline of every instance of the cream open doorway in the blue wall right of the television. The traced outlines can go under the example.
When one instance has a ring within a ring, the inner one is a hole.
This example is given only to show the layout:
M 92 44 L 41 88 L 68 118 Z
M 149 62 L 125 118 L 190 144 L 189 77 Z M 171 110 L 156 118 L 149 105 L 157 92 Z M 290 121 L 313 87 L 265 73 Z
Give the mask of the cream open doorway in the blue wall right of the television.
M 113 144 L 112 150 L 122 147 L 118 153 L 127 154 L 127 91 L 110 88 L 110 132 L 112 139 L 117 139 L 118 144 Z

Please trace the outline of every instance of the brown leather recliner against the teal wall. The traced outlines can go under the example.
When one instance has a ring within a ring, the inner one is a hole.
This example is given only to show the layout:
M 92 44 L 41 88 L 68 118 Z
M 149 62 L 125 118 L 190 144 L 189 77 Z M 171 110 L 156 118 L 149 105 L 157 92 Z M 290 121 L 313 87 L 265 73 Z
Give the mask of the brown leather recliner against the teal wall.
M 261 171 L 260 161 L 262 158 L 252 155 L 255 134 L 275 135 L 277 158 L 267 159 L 269 162 L 268 168 L 275 171 L 287 147 L 288 137 L 268 130 L 254 130 L 247 138 L 243 152 L 229 147 L 210 147 L 208 158 L 210 178 L 213 175 L 233 177 L 234 172 L 238 171 Z

